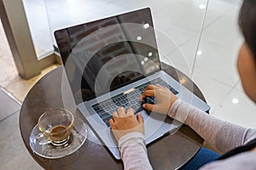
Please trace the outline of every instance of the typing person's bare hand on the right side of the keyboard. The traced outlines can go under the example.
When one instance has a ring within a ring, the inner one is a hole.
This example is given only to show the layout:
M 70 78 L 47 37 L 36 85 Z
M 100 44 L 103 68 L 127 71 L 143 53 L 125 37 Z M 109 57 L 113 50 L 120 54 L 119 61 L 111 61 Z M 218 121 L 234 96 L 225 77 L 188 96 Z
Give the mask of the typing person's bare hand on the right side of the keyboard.
M 168 88 L 162 87 L 159 84 L 149 85 L 145 88 L 140 100 L 143 100 L 147 96 L 154 97 L 157 100 L 157 103 L 154 105 L 144 104 L 143 108 L 148 111 L 154 111 L 162 114 L 168 114 L 173 103 L 177 100 L 177 97 L 172 94 Z

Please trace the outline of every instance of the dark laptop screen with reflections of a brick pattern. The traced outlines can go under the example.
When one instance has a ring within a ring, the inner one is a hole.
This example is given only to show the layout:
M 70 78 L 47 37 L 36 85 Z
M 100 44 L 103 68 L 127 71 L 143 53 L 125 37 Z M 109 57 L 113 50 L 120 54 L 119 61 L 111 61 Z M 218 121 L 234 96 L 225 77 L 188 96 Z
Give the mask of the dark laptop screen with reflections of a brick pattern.
M 149 8 L 55 31 L 77 104 L 160 71 Z

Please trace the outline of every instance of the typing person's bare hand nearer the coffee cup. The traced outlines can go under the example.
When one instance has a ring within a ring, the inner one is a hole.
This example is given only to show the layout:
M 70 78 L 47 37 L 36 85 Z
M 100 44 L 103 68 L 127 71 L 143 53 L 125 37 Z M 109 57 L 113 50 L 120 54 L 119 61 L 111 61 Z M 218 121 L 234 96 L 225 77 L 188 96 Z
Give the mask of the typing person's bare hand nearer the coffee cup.
M 117 112 L 113 112 L 113 118 L 109 120 L 109 124 L 117 141 L 127 133 L 144 134 L 143 116 L 140 113 L 134 116 L 134 112 L 133 109 L 128 109 L 125 113 L 123 107 L 119 107 Z

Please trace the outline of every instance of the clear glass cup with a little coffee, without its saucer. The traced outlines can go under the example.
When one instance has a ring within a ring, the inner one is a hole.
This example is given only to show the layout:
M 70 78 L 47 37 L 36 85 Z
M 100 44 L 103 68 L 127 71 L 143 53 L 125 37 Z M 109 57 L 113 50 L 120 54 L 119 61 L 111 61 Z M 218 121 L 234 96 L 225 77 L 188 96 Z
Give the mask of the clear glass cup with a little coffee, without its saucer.
M 73 114 L 65 109 L 45 111 L 38 119 L 38 143 L 67 146 L 72 140 L 73 122 Z

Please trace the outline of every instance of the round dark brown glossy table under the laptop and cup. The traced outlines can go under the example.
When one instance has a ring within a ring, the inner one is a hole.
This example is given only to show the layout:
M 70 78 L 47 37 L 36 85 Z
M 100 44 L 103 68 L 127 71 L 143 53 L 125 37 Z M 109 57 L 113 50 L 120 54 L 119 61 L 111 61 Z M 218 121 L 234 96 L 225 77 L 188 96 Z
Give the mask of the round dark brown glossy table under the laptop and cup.
M 182 72 L 172 66 L 161 63 L 162 70 L 166 71 L 174 79 L 183 80 L 182 84 L 199 98 L 204 96 L 195 83 L 191 82 Z M 45 169 L 123 169 L 122 161 L 115 160 L 108 149 L 99 144 L 96 135 L 88 130 L 88 139 L 79 150 L 72 155 L 59 159 L 46 159 L 32 152 L 29 145 L 29 136 L 32 128 L 37 124 L 39 116 L 48 109 L 64 107 L 63 94 L 61 94 L 61 77 L 63 66 L 49 72 L 40 79 L 29 91 L 20 109 L 20 133 L 31 156 Z M 191 86 L 193 83 L 194 86 Z M 191 89 L 193 88 L 193 89 Z M 67 94 L 68 95 L 68 94 Z M 69 95 L 70 97 L 70 95 Z M 72 101 L 72 99 L 70 99 Z M 65 107 L 73 111 L 76 116 L 83 118 L 73 102 L 65 103 Z M 177 133 L 148 144 L 148 157 L 154 169 L 176 169 L 182 167 L 201 148 L 203 139 L 190 127 L 183 125 Z

